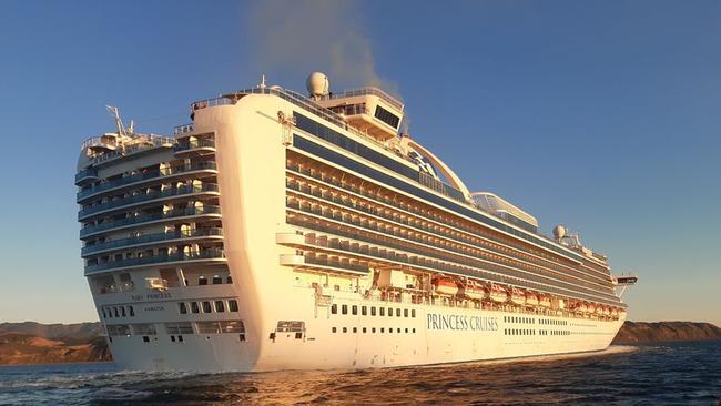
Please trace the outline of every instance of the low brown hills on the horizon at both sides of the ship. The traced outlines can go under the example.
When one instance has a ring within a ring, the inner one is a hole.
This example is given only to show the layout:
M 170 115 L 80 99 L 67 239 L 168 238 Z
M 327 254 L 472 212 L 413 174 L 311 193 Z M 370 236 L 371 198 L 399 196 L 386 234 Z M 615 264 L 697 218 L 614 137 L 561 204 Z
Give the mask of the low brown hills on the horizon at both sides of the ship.
M 100 323 L 0 323 L 0 365 L 112 361 Z M 626 322 L 613 343 L 721 341 L 711 323 Z

